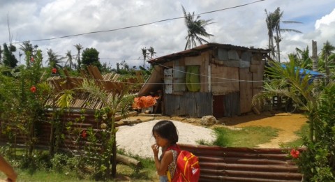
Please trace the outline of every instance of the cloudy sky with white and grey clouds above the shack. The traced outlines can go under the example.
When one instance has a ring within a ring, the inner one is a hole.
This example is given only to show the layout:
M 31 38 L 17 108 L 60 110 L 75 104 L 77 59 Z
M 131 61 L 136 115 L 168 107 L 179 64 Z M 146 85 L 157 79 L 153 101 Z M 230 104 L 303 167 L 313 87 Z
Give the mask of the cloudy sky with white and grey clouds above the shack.
M 0 0 L 0 4 L 1 47 L 10 40 L 9 22 L 17 47 L 30 40 L 47 59 L 47 49 L 59 56 L 68 50 L 76 55 L 74 45 L 81 44 L 96 48 L 101 62 L 113 68 L 123 60 L 130 66 L 142 65 L 144 47 L 154 47 L 156 56 L 184 50 L 187 30 L 179 18 L 184 16 L 181 6 L 187 12 L 204 13 L 203 20 L 213 20 L 207 26 L 207 32 L 214 35 L 207 39 L 210 43 L 267 49 L 265 9 L 274 12 L 280 7 L 283 20 L 302 22 L 281 27 L 303 32 L 282 33 L 283 59 L 295 47 L 311 50 L 312 40 L 318 42 L 319 51 L 327 40 L 335 45 L 334 0 Z M 207 13 L 214 10 L 218 11 Z

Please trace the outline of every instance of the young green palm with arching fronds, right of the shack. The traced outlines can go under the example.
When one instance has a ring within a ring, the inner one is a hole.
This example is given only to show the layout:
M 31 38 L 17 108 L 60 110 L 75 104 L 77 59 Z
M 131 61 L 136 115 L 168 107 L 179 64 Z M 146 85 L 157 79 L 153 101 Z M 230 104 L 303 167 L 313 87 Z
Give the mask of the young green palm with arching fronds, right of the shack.
M 318 92 L 313 91 L 314 85 L 311 84 L 311 77 L 308 73 L 301 74 L 299 70 L 304 68 L 304 64 L 297 66 L 295 61 L 290 61 L 283 66 L 277 61 L 270 61 L 267 67 L 267 74 L 270 77 L 269 82 L 265 82 L 263 90 L 253 97 L 253 104 L 259 104 L 266 98 L 273 96 L 285 96 L 292 99 L 299 105 L 299 109 L 309 114 L 310 120 L 310 139 L 313 139 L 314 123 L 313 113 L 318 107 Z

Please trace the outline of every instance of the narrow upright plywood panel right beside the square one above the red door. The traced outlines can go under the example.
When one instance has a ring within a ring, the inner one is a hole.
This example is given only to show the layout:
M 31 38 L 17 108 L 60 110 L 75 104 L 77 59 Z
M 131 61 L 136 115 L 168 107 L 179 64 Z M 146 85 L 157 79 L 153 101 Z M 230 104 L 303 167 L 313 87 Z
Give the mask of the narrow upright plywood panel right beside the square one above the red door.
M 249 71 L 248 68 L 239 69 L 239 96 L 240 96 L 240 109 L 241 113 L 251 112 L 252 108 L 252 99 L 253 99 L 253 74 Z

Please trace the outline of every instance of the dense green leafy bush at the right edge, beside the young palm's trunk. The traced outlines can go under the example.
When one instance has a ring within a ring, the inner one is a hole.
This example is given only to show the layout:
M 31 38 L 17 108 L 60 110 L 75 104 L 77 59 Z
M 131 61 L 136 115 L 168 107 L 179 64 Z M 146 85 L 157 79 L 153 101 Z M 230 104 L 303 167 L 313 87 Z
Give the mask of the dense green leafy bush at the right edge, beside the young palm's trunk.
M 313 119 L 313 138 L 303 138 L 306 150 L 296 162 L 304 181 L 335 181 L 334 83 L 320 93 L 316 105 L 315 111 L 308 113 L 309 121 Z

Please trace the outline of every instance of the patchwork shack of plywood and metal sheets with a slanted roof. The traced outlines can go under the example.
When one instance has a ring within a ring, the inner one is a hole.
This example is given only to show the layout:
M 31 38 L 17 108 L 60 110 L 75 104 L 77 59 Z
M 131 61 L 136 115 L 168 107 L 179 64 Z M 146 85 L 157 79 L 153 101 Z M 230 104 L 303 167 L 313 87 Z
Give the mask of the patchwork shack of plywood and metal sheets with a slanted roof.
M 252 111 L 269 50 L 208 43 L 148 61 L 154 66 L 139 96 L 163 90 L 170 116 L 216 118 Z

